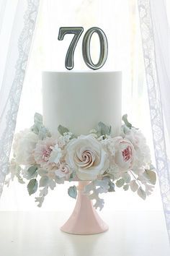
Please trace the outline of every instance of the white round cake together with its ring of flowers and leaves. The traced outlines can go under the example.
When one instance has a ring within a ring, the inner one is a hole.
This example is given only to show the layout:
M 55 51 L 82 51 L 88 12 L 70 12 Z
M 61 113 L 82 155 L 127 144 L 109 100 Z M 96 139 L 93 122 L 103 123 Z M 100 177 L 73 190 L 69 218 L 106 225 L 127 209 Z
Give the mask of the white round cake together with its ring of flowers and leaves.
M 40 187 L 38 206 L 48 189 L 65 181 L 84 181 L 84 195 L 95 200 L 115 188 L 146 199 L 156 173 L 146 139 L 121 113 L 121 72 L 43 72 L 43 115 L 15 135 L 11 178 L 29 180 L 30 195 Z M 122 117 L 121 117 L 122 116 Z M 121 119 L 123 123 L 121 123 Z M 68 195 L 77 196 L 76 186 Z M 81 221 L 82 222 L 82 221 Z

